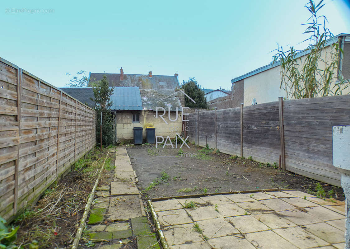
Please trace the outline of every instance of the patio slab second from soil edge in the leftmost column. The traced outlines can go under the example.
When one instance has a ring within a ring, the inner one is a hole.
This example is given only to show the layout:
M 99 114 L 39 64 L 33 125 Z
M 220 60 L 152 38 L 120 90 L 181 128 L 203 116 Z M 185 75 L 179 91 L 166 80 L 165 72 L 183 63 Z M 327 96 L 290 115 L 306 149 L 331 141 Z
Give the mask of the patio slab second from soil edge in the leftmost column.
M 159 222 L 164 226 L 191 223 L 192 220 L 184 209 L 157 212 Z

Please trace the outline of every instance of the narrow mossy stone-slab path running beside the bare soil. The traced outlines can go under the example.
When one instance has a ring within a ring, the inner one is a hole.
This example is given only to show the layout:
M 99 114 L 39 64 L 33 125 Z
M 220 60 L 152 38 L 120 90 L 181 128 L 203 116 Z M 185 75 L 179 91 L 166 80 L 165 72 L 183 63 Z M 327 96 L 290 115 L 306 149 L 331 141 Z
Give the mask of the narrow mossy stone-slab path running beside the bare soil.
M 160 248 L 145 216 L 137 181 L 125 148 L 116 151 L 114 180 L 99 187 L 91 210 L 88 230 L 91 241 L 101 249 L 118 249 L 137 236 L 138 249 Z

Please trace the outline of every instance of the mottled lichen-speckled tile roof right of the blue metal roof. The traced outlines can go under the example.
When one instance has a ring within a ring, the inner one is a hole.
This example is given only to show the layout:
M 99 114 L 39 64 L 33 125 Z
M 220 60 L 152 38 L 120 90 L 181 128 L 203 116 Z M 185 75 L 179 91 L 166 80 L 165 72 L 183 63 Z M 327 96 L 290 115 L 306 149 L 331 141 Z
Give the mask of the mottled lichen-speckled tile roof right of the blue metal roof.
M 155 111 L 156 107 L 163 107 L 165 110 L 168 110 L 170 107 L 170 111 L 176 111 L 177 107 L 180 111 L 182 107 L 181 102 L 174 92 L 171 89 L 140 89 L 143 109 Z M 172 96 L 168 97 L 169 95 Z

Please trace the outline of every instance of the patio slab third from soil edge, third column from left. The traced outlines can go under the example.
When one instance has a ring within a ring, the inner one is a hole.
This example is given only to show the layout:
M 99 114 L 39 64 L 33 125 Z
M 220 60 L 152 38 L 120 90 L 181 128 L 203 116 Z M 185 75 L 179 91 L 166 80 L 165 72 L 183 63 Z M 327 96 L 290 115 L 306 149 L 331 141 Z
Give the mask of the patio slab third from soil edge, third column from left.
M 252 233 L 270 229 L 264 223 L 255 219 L 252 215 L 231 217 L 231 222 L 233 226 L 242 233 Z

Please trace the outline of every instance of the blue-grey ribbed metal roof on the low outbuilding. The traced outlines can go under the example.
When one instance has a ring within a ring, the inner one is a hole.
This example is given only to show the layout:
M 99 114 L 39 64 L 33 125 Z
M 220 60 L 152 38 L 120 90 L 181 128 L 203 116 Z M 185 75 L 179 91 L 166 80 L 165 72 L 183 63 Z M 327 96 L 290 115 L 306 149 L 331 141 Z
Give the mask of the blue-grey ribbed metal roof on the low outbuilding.
M 111 110 L 142 110 L 138 87 L 115 87 L 111 96 Z

